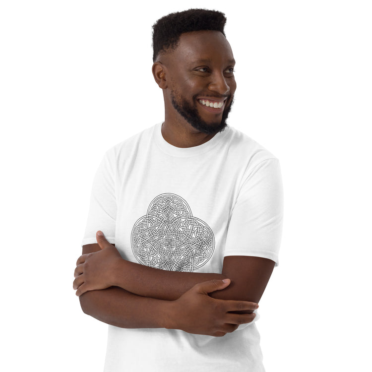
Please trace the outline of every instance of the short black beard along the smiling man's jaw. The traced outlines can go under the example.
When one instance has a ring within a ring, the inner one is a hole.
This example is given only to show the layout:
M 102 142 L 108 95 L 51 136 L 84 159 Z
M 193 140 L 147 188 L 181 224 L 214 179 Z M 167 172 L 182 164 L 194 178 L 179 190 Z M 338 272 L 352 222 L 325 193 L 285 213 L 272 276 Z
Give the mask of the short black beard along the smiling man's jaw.
M 191 106 L 191 104 L 184 98 L 180 97 L 179 100 L 177 100 L 173 92 L 171 93 L 171 98 L 173 107 L 187 121 L 187 123 L 198 131 L 206 134 L 216 134 L 222 132 L 227 127 L 226 120 L 234 103 L 233 99 L 230 102 L 230 105 L 225 107 L 221 121 L 207 123 L 201 119 L 196 107 Z M 192 101 L 196 101 L 196 96 L 193 97 Z

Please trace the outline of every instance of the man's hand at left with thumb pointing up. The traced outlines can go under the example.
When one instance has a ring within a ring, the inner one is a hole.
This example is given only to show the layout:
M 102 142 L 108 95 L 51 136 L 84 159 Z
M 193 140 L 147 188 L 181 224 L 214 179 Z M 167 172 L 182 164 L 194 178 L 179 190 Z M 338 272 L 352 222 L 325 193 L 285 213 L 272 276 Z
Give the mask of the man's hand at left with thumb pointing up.
M 76 296 L 113 286 L 115 267 L 123 259 L 118 249 L 106 240 L 101 231 L 97 232 L 96 238 L 101 250 L 83 254 L 76 262 L 73 281 Z

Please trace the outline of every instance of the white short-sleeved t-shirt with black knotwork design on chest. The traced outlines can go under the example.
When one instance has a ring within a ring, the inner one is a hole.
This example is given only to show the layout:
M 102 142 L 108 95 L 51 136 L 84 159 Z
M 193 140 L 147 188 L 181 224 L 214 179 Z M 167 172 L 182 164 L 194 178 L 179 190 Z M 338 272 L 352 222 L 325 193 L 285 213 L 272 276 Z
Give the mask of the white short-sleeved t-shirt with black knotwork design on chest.
M 164 270 L 221 273 L 228 255 L 277 265 L 278 160 L 232 127 L 200 146 L 179 148 L 164 140 L 161 125 L 106 153 L 82 244 L 96 243 L 102 230 L 124 259 Z M 264 371 L 254 323 L 224 337 L 109 325 L 105 371 Z

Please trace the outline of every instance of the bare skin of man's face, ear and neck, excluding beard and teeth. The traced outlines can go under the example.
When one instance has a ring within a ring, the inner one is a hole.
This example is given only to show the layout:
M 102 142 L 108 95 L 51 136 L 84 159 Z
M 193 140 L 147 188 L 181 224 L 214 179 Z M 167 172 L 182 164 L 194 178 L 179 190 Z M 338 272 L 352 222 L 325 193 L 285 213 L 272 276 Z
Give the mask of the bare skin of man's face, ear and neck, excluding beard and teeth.
M 174 109 L 172 94 L 184 96 L 206 122 L 220 122 L 223 110 L 231 104 L 236 90 L 232 72 L 234 66 L 230 44 L 218 31 L 183 34 L 175 51 L 158 57 L 152 72 L 163 90 L 165 121 L 162 134 L 167 142 L 176 147 L 193 147 L 207 142 L 216 134 L 206 134 L 193 128 Z M 208 110 L 198 102 L 199 98 L 223 101 L 224 106 Z

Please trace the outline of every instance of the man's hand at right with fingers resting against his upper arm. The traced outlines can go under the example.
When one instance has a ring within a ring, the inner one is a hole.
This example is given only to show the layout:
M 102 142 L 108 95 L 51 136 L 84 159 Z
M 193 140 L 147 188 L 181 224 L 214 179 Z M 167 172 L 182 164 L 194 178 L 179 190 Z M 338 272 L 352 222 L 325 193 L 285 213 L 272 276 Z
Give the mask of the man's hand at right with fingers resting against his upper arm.
M 188 333 L 224 336 L 235 331 L 239 324 L 250 323 L 255 314 L 234 314 L 231 311 L 253 311 L 258 305 L 253 302 L 217 300 L 208 293 L 226 288 L 230 279 L 210 280 L 196 284 L 178 300 L 173 301 L 171 327 Z

